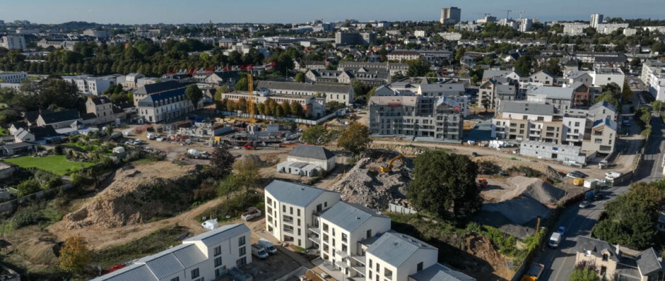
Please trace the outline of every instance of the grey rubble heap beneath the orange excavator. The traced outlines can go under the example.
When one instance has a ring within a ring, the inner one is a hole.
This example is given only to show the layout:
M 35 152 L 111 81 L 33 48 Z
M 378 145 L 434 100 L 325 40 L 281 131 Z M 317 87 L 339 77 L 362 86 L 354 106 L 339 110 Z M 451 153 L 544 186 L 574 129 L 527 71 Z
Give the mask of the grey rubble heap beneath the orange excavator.
M 343 201 L 372 209 L 388 209 L 388 203 L 408 207 L 406 190 L 411 181 L 409 174 L 413 170 L 413 160 L 404 157 L 394 161 L 388 173 L 380 171 L 381 166 L 387 166 L 397 155 L 399 153 L 396 151 L 369 149 L 362 155 L 362 159 L 329 189 L 341 193 Z

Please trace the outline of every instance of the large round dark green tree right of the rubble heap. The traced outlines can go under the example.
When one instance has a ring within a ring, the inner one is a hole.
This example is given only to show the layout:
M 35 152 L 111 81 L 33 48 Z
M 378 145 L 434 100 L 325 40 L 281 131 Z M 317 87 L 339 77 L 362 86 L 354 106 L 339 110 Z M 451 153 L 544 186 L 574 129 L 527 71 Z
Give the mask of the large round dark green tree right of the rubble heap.
M 466 155 L 428 151 L 415 159 L 414 180 L 406 197 L 421 211 L 458 223 L 480 210 L 478 166 Z

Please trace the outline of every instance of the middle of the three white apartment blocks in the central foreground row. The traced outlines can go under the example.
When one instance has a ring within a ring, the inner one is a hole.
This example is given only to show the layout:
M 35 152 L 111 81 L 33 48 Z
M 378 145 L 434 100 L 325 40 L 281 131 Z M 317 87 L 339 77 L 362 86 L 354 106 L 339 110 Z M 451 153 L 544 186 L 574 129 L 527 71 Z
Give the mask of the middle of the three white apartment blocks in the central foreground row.
M 346 276 L 365 276 L 365 240 L 390 230 L 390 217 L 355 203 L 339 202 L 325 211 L 310 239 L 320 245 L 321 258 Z

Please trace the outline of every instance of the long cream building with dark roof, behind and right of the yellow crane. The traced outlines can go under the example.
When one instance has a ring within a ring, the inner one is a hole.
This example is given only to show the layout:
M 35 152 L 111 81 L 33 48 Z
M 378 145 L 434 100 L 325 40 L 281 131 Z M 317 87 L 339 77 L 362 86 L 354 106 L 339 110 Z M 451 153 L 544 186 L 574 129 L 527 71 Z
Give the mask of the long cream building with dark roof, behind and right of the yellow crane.
M 353 88 L 350 85 L 311 84 L 298 82 L 276 82 L 261 80 L 256 86 L 259 91 L 269 94 L 316 96 L 325 98 L 325 102 L 340 102 L 350 105 L 354 101 Z

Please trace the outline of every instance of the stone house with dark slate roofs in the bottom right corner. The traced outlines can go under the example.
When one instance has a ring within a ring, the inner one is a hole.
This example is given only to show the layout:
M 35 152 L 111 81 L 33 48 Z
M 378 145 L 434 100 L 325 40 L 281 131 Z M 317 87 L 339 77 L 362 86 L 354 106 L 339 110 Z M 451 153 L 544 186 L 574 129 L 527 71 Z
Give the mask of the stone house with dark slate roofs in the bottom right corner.
M 600 278 L 605 280 L 662 280 L 665 274 L 660 254 L 654 248 L 640 252 L 578 236 L 575 252 L 575 264 L 593 264 Z

